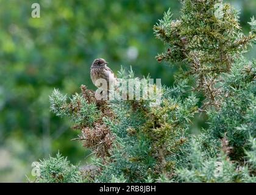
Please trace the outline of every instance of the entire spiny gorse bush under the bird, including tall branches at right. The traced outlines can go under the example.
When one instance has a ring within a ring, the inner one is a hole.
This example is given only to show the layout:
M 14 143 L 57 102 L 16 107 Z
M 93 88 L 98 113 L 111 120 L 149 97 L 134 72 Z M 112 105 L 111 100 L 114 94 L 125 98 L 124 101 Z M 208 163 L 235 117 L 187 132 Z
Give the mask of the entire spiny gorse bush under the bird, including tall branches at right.
M 81 132 L 76 140 L 94 154 L 81 171 L 84 182 L 255 182 L 256 64 L 242 54 L 256 41 L 256 22 L 244 35 L 229 4 L 181 2 L 179 19 L 168 11 L 154 26 L 167 47 L 158 62 L 180 66 L 160 105 L 100 101 L 84 85 L 69 101 L 52 93 L 51 111 L 70 118 Z M 190 132 L 196 113 L 208 116 L 199 135 Z

